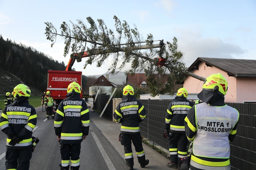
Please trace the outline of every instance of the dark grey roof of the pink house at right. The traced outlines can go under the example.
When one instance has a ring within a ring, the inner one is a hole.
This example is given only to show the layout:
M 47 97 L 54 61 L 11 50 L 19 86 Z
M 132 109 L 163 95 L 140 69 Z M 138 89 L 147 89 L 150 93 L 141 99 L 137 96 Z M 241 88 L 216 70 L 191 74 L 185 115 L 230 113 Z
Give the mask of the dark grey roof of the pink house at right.
M 197 69 L 201 62 L 205 62 L 205 64 L 208 66 L 214 66 L 222 71 L 225 71 L 230 76 L 256 77 L 256 60 L 199 57 L 188 68 L 188 71 Z

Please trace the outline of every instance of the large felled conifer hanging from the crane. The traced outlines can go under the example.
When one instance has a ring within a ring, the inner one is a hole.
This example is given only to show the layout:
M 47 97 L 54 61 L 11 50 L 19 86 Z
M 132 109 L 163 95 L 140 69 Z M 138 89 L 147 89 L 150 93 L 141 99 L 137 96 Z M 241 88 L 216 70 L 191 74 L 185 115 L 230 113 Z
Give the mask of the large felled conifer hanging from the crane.
M 77 53 L 77 61 L 80 62 L 83 52 L 87 51 L 84 68 L 92 63 L 97 63 L 97 67 L 100 67 L 104 62 L 111 61 L 112 64 L 108 68 L 111 74 L 123 70 L 127 64 L 131 65 L 131 68 L 126 70 L 126 73 L 144 71 L 148 76 L 147 81 L 153 96 L 173 94 L 177 90 L 173 88 L 174 83 L 184 81 L 187 75 L 204 81 L 205 78 L 187 71 L 182 61 L 183 53 L 178 50 L 176 37 L 173 42 L 167 41 L 160 49 L 156 49 L 152 34 L 148 34 L 144 40 L 136 25 L 131 28 L 126 21 L 121 21 L 116 16 L 113 17 L 115 31 L 108 29 L 102 19 L 97 19 L 97 23 L 91 17 L 86 19 L 89 26 L 79 19 L 76 24 L 70 21 L 70 26 L 63 22 L 60 25 L 61 33 L 57 32 L 51 22 L 45 22 L 45 35 L 46 39 L 52 42 L 51 47 L 57 36 L 61 36 L 65 43 L 64 56 L 71 53 L 70 57 L 73 57 L 73 53 Z M 143 44 L 148 48 L 138 48 Z M 164 66 L 157 65 L 159 57 L 165 59 Z M 168 77 L 167 82 L 160 81 L 162 77 Z

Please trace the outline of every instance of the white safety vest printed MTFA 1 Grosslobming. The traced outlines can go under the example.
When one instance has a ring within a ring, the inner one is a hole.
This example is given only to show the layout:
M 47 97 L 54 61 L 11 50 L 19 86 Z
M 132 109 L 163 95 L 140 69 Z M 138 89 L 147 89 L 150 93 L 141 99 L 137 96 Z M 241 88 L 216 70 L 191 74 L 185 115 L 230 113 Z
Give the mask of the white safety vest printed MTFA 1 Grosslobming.
M 229 159 L 228 135 L 238 121 L 238 111 L 228 105 L 219 107 L 201 103 L 195 105 L 195 115 L 197 131 L 193 153 L 201 157 Z M 230 169 L 230 166 L 224 169 Z

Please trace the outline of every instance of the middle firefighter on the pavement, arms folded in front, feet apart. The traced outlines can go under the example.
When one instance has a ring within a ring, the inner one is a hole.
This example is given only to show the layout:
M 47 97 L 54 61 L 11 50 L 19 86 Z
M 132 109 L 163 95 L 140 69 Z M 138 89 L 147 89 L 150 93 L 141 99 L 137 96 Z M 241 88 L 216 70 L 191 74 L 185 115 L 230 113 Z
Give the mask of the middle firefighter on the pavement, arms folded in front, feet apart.
M 148 165 L 145 152 L 142 147 L 139 122 L 146 117 L 146 110 L 140 100 L 134 97 L 132 86 L 126 85 L 123 89 L 122 101 L 117 105 L 113 114 L 116 122 L 121 122 L 121 134 L 119 139 L 124 145 L 124 157 L 129 170 L 133 169 L 132 143 L 135 146 L 140 167 Z M 132 142 L 131 142 L 132 141 Z

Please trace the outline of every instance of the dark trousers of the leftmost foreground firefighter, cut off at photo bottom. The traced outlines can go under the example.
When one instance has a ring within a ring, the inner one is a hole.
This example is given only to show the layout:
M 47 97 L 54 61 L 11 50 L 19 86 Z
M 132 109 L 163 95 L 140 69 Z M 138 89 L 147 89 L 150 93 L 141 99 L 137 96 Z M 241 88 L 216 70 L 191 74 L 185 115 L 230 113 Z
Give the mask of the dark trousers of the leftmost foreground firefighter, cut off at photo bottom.
M 6 148 L 5 154 L 5 168 L 6 169 L 18 169 L 28 170 L 29 160 L 32 157 L 31 148 L 26 149 L 9 149 Z

